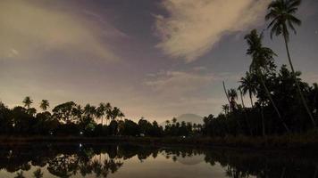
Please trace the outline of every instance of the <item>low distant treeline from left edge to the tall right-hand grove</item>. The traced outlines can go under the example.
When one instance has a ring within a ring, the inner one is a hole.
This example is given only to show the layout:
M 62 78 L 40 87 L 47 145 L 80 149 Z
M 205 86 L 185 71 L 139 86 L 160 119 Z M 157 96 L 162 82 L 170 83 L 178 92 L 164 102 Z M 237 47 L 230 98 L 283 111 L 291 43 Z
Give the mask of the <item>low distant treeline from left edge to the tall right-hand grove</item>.
M 47 111 L 49 101 L 42 100 L 39 108 L 32 108 L 30 97 L 23 100 L 24 107 L 9 109 L 0 102 L 0 134 L 10 135 L 73 135 L 73 136 L 189 136 L 200 134 L 202 125 L 177 122 L 175 118 L 164 127 L 145 118 L 134 122 L 118 107 L 100 103 L 97 107 L 81 107 L 73 101 L 59 104 Z M 98 123 L 98 124 L 97 124 Z

